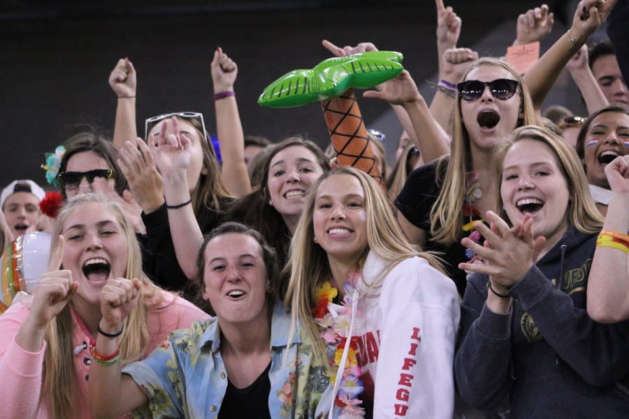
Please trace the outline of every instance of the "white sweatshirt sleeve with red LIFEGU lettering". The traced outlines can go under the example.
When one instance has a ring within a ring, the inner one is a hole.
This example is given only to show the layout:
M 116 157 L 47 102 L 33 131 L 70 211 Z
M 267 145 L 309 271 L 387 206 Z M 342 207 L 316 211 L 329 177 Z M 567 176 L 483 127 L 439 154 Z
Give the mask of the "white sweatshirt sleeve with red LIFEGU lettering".
M 452 418 L 454 282 L 419 258 L 406 260 L 386 277 L 379 310 L 374 417 Z

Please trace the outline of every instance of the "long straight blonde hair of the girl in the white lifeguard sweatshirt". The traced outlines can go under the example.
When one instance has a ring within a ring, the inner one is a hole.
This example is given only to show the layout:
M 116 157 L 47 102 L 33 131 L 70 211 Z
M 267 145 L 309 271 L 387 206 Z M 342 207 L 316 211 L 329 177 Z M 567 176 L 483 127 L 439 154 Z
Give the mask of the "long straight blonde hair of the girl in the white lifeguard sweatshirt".
M 326 360 L 326 349 L 319 338 L 319 326 L 312 318 L 312 308 L 315 307 L 315 290 L 331 276 L 326 251 L 314 242 L 314 227 L 312 216 L 315 211 L 315 199 L 321 184 L 328 178 L 337 175 L 356 177 L 365 195 L 365 209 L 367 213 L 366 232 L 368 249 L 385 260 L 388 266 L 369 289 L 382 286 L 386 274 L 393 267 L 406 258 L 420 256 L 426 258 L 433 267 L 441 270 L 440 263 L 431 253 L 421 253 L 405 238 L 398 224 L 395 210 L 391 201 L 379 184 L 369 175 L 354 168 L 336 168 L 329 174 L 323 175 L 308 193 L 305 208 L 297 225 L 291 242 L 291 258 L 284 272 L 290 273 L 289 286 L 284 305 L 291 308 L 291 332 L 301 323 L 312 341 L 315 355 L 321 362 Z M 362 278 L 361 278 L 362 280 Z

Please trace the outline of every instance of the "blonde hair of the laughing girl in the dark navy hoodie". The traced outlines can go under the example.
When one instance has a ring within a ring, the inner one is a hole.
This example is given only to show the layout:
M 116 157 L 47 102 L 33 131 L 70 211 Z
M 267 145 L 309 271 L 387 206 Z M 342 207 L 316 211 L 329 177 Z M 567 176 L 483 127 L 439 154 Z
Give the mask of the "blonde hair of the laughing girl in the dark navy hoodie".
M 496 168 L 497 200 L 496 213 L 509 220 L 500 196 L 500 185 L 503 182 L 503 162 L 509 149 L 520 140 L 535 140 L 547 145 L 555 155 L 557 166 L 561 168 L 568 186 L 567 214 L 570 223 L 581 233 L 594 234 L 600 231 L 605 219 L 598 212 L 588 188 L 588 180 L 581 167 L 577 152 L 563 138 L 539 126 L 522 126 L 511 135 L 500 140 L 494 149 L 492 161 Z

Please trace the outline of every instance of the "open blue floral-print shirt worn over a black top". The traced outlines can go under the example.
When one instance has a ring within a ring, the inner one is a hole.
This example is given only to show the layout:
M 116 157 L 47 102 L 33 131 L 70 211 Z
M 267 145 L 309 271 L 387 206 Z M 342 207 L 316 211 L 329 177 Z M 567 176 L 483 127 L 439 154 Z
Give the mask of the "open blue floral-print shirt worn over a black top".
M 326 367 L 316 365 L 301 328 L 288 346 L 290 322 L 290 315 L 277 304 L 271 320 L 270 416 L 319 418 L 328 406 L 317 409 L 328 389 Z M 127 365 L 123 372 L 146 393 L 156 418 L 217 418 L 227 389 L 219 349 L 219 323 L 211 318 L 171 333 L 148 358 Z M 135 414 L 142 417 L 140 411 Z

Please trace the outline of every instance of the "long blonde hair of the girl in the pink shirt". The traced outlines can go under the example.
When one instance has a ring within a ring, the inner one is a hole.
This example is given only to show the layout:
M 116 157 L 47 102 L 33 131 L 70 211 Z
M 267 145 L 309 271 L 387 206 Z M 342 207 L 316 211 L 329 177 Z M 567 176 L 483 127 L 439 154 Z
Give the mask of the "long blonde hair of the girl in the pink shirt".
M 98 203 L 122 226 L 127 242 L 126 277 L 138 278 L 143 282 L 136 308 L 124 320 L 121 337 L 122 359 L 124 362 L 136 360 L 144 355 L 149 345 L 150 336 L 146 324 L 146 313 L 161 302 L 159 287 L 155 286 L 142 271 L 142 256 L 136 235 L 124 212 L 117 203 L 106 197 L 85 193 L 70 198 L 64 209 L 59 212 L 55 231 L 52 234 L 50 254 L 54 254 L 59 244 L 59 235 L 64 225 L 75 211 L 83 205 Z M 149 303 L 150 302 L 150 303 Z M 71 303 L 70 303 L 71 304 Z M 98 308 L 100 311 L 100 308 Z M 74 369 L 72 335 L 73 320 L 69 304 L 48 323 L 44 365 L 43 395 L 48 397 L 48 412 L 52 418 L 72 418 L 75 416 L 77 403 L 77 377 Z

